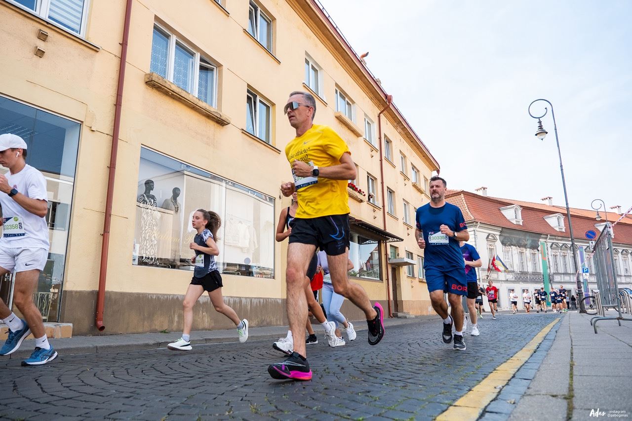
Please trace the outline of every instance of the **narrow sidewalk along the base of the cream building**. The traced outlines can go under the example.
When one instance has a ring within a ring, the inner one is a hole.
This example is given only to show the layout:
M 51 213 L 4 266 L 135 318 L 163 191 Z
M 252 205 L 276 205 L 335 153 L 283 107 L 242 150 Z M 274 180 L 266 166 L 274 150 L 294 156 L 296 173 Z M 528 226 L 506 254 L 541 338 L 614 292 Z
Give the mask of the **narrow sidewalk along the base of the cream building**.
M 384 319 L 384 326 L 398 326 L 401 324 L 416 323 L 420 320 L 437 319 L 438 315 L 416 316 L 410 319 Z M 364 320 L 352 320 L 356 331 L 367 330 Z M 322 338 L 324 335 L 320 324 L 313 324 L 314 333 Z M 262 326 L 248 329 L 248 341 L 262 339 L 279 339 L 286 336 L 288 326 Z M 116 351 L 152 350 L 164 348 L 168 343 L 178 340 L 182 336 L 181 331 L 169 333 L 130 333 L 99 336 L 73 336 L 73 338 L 51 339 L 52 345 L 59 355 L 90 354 Z M 192 331 L 191 345 L 209 343 L 229 343 L 238 341 L 235 329 L 223 329 L 217 331 Z M 27 339 L 20 350 L 11 354 L 12 359 L 24 359 L 33 352 L 34 339 Z

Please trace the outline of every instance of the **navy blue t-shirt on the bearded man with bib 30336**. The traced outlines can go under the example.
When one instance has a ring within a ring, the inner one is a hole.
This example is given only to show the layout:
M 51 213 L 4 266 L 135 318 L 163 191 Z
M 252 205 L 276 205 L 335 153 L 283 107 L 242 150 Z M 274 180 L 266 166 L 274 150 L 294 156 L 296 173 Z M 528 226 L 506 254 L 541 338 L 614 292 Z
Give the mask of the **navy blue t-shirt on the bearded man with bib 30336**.
M 417 229 L 423 233 L 423 240 L 426 241 L 425 252 L 423 252 L 424 269 L 446 271 L 460 267 L 465 270 L 459 241 L 454 237 L 448 238 L 439 229 L 441 225 L 447 225 L 456 233 L 467 229 L 461 209 L 449 203 L 442 207 L 425 204 L 417 208 L 415 221 Z

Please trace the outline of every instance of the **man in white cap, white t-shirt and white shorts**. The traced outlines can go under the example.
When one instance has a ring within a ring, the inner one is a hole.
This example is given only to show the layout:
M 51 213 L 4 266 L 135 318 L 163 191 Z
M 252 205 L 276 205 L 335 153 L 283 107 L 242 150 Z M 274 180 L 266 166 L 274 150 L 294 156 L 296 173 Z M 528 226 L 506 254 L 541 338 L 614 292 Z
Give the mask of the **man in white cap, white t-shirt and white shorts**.
M 27 165 L 27 143 L 16 135 L 0 135 L 0 165 L 9 171 L 0 175 L 0 276 L 15 271 L 13 300 L 24 315 L 17 317 L 0 300 L 0 319 L 9 327 L 9 337 L 0 355 L 9 355 L 33 333 L 35 351 L 22 365 L 42 365 L 57 357 L 48 343 L 42 314 L 33 303 L 33 291 L 48 259 L 48 210 L 44 175 Z

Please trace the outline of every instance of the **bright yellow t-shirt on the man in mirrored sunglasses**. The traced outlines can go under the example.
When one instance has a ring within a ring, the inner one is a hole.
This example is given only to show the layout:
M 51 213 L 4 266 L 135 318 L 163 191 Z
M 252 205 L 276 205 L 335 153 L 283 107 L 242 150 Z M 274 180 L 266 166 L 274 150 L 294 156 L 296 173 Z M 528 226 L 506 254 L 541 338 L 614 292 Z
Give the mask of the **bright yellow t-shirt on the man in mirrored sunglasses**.
M 295 160 L 310 166 L 331 167 L 340 164 L 340 158 L 349 148 L 329 126 L 313 125 L 285 147 L 285 156 L 291 166 Z M 349 213 L 349 193 L 346 180 L 294 176 L 298 193 L 296 217 L 315 218 Z

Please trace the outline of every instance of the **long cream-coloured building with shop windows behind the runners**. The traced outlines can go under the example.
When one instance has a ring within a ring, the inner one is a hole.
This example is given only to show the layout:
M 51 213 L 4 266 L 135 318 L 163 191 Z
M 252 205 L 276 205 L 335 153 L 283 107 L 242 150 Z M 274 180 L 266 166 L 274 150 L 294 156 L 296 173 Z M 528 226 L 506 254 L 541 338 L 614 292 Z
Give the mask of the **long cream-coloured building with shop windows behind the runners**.
M 358 166 L 351 276 L 391 312 L 430 311 L 414 218 L 439 165 L 326 16 L 313 0 L 0 0 L 0 131 L 25 138 L 49 186 L 51 255 L 35 295 L 46 321 L 97 333 L 100 280 L 104 333 L 180 329 L 201 207 L 222 217 L 228 303 L 253 327 L 285 323 L 287 242 L 274 232 L 289 205 L 279 185 L 291 177 L 293 90 L 315 94 L 315 123 Z M 10 279 L 0 292 L 10 299 Z M 194 329 L 229 327 L 208 301 L 195 311 Z

